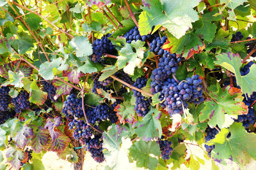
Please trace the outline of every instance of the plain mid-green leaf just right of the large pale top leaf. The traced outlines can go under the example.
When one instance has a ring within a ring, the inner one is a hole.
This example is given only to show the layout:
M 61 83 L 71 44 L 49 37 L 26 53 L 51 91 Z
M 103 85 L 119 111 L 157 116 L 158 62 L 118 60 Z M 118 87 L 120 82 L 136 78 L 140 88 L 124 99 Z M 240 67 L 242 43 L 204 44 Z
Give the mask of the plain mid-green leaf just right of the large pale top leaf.
M 218 17 L 213 17 L 214 13 L 216 13 L 216 11 L 211 11 L 202 15 L 204 26 L 200 29 L 196 29 L 195 32 L 198 36 L 200 36 L 200 38 L 205 39 L 209 43 L 212 42 L 217 29 L 217 26 L 212 24 L 212 21 L 221 20 L 221 15 L 218 15 Z

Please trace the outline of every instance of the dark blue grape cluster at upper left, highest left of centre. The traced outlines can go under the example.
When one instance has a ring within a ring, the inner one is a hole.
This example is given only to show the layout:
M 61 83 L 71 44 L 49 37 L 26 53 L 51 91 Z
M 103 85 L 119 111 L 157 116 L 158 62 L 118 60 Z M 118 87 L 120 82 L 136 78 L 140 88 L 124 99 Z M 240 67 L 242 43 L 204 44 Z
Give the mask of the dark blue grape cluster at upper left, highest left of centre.
M 100 39 L 93 41 L 92 49 L 93 55 L 90 56 L 90 59 L 93 62 L 101 62 L 103 53 L 114 53 L 115 46 L 112 45 L 111 41 L 108 39 L 111 34 L 106 34 Z

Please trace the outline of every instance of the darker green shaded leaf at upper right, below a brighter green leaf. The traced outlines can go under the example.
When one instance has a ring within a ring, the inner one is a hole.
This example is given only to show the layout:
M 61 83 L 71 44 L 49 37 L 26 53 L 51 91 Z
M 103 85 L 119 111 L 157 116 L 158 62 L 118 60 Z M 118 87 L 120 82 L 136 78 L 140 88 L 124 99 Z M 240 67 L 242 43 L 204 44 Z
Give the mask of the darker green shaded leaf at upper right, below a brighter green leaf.
M 219 29 L 217 34 L 215 35 L 212 43 L 206 45 L 206 50 L 211 50 L 212 48 L 222 48 L 227 49 L 230 43 L 232 35 L 229 31 L 224 31 L 223 29 Z

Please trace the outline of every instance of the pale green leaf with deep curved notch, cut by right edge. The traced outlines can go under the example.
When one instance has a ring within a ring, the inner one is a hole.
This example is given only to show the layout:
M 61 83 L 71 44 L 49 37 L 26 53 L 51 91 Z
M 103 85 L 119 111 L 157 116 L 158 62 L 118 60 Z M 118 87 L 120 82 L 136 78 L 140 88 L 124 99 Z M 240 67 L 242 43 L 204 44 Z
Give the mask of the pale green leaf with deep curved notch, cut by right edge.
M 225 67 L 225 69 L 228 69 L 228 71 L 231 71 L 236 75 L 237 85 L 241 87 L 243 94 L 250 95 L 252 92 L 256 91 L 256 75 L 254 74 L 256 71 L 256 64 L 253 64 L 250 67 L 250 73 L 246 76 L 241 76 L 240 67 L 242 64 L 241 57 L 238 53 L 220 53 L 216 58 L 217 61 L 214 62 L 215 64 Z

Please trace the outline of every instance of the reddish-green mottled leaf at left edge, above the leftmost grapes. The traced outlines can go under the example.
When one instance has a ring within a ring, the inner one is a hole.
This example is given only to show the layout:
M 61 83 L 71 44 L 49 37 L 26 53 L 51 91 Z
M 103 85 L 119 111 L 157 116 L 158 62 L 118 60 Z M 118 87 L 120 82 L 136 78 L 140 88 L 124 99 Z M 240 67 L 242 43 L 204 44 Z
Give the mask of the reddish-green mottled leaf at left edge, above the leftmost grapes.
M 17 66 L 19 67 L 17 68 Z M 13 62 L 0 66 L 1 76 L 6 79 L 8 79 L 8 71 L 13 71 L 14 73 L 19 73 L 19 71 L 21 71 L 25 77 L 28 77 L 30 76 L 30 74 L 32 74 L 33 69 L 28 64 L 26 64 L 26 62 L 21 60 L 15 60 Z

